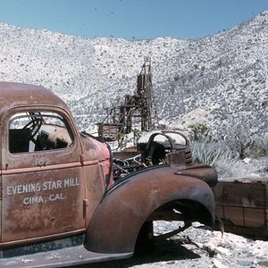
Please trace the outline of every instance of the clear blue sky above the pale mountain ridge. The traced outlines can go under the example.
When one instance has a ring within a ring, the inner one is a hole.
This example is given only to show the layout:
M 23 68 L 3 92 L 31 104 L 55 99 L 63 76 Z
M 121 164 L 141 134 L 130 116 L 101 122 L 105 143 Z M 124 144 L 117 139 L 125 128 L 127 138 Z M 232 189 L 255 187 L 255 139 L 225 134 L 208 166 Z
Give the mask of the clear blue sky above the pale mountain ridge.
M 202 38 L 268 10 L 268 0 L 0 0 L 0 21 L 87 38 Z

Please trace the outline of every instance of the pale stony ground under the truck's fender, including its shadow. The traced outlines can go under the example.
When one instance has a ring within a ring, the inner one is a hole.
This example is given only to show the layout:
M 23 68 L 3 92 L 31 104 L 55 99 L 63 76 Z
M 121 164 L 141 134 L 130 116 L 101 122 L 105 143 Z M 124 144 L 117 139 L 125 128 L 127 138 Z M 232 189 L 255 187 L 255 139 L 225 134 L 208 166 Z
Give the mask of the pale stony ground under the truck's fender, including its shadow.
M 173 230 L 177 224 L 157 222 L 155 233 Z M 264 268 L 268 267 L 268 241 L 246 239 L 226 232 L 222 237 L 220 231 L 208 230 L 204 225 L 195 222 L 172 239 L 157 242 L 151 255 L 78 267 Z

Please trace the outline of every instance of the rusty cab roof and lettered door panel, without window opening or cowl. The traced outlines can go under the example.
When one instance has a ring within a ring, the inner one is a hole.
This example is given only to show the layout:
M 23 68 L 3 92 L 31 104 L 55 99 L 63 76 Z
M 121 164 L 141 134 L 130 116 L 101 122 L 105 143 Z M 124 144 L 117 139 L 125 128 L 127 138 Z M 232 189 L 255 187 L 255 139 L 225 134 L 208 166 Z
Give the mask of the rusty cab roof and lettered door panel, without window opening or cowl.
M 46 153 L 11 153 L 9 148 L 9 121 L 14 113 L 61 111 L 75 133 L 68 108 L 57 96 L 41 87 L 1 83 L 0 88 L 1 101 L 4 102 L 0 111 L 1 245 L 13 246 L 85 230 L 80 204 L 83 173 L 79 140 L 76 139 L 66 150 Z

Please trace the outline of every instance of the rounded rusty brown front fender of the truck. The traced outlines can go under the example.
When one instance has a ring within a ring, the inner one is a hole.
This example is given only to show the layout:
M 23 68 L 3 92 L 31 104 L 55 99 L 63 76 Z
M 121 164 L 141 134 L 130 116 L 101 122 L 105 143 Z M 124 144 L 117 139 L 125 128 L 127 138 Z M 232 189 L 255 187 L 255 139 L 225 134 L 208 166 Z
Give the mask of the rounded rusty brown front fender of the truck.
M 203 180 L 170 166 L 136 172 L 111 188 L 88 224 L 85 247 L 99 253 L 134 252 L 138 232 L 155 210 L 172 201 L 199 204 L 199 222 L 214 224 L 214 195 Z

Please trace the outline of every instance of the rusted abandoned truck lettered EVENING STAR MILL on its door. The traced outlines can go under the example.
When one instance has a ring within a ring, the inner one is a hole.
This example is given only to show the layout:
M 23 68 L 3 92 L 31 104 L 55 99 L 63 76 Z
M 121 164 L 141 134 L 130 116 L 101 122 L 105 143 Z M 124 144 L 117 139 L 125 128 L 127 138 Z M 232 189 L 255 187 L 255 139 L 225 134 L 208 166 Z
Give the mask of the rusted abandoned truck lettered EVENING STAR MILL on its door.
M 117 160 L 113 172 L 109 147 L 80 133 L 59 97 L 18 83 L 0 82 L 0 92 L 1 267 L 130 257 L 152 240 L 157 220 L 183 221 L 181 230 L 196 221 L 214 226 L 217 175 L 191 163 L 187 140 L 152 136 L 141 147 L 146 168 L 126 171 Z

